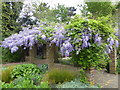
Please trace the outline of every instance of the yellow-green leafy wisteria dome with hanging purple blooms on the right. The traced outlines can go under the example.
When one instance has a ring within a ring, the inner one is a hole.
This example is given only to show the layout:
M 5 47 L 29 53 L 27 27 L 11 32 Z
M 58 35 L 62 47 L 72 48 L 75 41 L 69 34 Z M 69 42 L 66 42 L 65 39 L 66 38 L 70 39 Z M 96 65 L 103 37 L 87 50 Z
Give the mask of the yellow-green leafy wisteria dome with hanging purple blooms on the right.
M 114 45 L 116 47 L 119 46 L 118 40 L 111 37 L 111 35 L 113 35 L 113 32 L 109 31 L 111 28 L 102 25 L 99 21 L 75 19 L 75 21 L 73 20 L 66 28 L 67 36 L 71 37 L 70 42 L 73 44 L 76 54 L 79 54 L 82 49 L 92 46 L 92 44 L 101 45 L 106 43 L 107 53 L 112 51 Z M 108 33 L 110 35 L 108 35 Z M 108 38 L 107 42 L 105 42 L 105 38 Z

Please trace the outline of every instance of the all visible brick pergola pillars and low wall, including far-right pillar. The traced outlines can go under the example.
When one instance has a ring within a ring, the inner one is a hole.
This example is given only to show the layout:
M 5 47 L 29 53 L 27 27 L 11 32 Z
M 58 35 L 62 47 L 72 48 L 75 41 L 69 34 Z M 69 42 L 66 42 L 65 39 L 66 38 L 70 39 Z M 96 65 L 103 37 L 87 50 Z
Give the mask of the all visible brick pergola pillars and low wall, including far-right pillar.
M 29 56 L 25 57 L 25 60 L 30 63 L 35 64 L 48 64 L 49 70 L 54 68 L 54 62 L 58 59 L 57 55 L 57 47 L 55 44 L 52 44 L 49 46 L 49 44 L 46 44 L 46 50 L 44 50 L 44 57 L 45 59 L 37 59 L 35 58 L 37 55 L 37 47 L 34 45 L 32 49 L 29 49 Z M 39 52 L 38 52 L 39 53 Z M 111 58 L 111 62 L 109 63 L 109 72 L 115 73 L 116 72 L 116 49 L 113 49 L 113 51 L 109 54 Z

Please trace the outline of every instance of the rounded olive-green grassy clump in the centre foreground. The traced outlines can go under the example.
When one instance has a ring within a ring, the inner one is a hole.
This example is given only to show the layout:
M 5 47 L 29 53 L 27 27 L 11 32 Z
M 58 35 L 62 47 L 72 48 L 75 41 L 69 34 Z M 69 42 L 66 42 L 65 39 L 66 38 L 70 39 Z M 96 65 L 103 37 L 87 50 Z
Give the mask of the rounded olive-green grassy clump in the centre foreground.
M 63 83 L 65 81 L 70 81 L 75 78 L 75 73 L 68 70 L 53 69 L 48 72 L 47 77 L 49 83 Z

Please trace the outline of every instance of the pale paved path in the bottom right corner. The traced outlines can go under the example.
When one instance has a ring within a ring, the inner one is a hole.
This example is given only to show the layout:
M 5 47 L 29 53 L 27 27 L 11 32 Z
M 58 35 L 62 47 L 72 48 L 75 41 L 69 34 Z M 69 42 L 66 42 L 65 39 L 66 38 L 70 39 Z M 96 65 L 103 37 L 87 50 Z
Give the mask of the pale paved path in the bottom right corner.
M 94 81 L 102 88 L 118 88 L 118 74 L 110 74 L 105 70 L 94 70 Z

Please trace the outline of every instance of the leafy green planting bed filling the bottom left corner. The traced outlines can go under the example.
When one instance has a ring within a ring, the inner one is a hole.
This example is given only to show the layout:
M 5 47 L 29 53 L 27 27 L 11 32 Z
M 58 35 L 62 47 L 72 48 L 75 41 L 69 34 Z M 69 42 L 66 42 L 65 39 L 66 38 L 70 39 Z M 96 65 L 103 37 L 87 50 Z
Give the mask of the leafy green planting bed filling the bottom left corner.
M 43 66 L 47 66 L 43 64 Z M 30 68 L 31 67 L 31 68 Z M 12 68 L 12 69 L 11 69 Z M 35 64 L 20 64 L 8 66 L 3 69 L 2 88 L 49 88 L 48 82 L 42 82 L 43 73 L 46 68 L 38 67 Z M 32 71 L 32 72 L 31 72 Z M 7 74 L 6 74 L 7 73 Z

